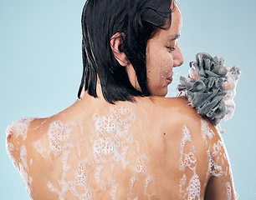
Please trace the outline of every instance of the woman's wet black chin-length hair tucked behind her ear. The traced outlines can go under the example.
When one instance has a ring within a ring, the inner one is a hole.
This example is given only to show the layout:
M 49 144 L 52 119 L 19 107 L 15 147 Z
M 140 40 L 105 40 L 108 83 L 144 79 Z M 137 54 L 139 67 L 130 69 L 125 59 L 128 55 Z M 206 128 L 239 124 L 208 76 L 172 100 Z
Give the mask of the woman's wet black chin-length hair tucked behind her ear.
M 82 89 L 97 97 L 97 75 L 105 100 L 134 101 L 150 96 L 146 87 L 146 44 L 160 29 L 172 23 L 173 0 L 87 0 L 82 13 Z M 123 51 L 136 72 L 141 91 L 131 85 L 125 67 L 115 59 L 110 39 L 116 33 L 123 39 Z

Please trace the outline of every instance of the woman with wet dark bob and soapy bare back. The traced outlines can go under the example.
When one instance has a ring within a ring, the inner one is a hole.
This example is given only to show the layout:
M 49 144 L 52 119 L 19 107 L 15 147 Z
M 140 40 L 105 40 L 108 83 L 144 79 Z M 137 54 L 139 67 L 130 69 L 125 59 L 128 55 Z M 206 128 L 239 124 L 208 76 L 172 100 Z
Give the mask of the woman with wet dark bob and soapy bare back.
M 79 100 L 8 127 L 33 199 L 234 199 L 222 138 L 185 97 L 166 98 L 182 15 L 170 0 L 88 0 Z

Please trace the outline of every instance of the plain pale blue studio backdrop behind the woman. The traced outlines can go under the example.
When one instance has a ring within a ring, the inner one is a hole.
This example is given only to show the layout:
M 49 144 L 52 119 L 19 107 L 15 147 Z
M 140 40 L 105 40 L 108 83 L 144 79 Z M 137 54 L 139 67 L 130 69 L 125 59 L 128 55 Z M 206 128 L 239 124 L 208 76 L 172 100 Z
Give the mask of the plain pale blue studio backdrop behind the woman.
M 234 116 L 223 138 L 240 199 L 256 199 L 254 0 L 179 0 L 179 40 L 185 62 L 175 70 L 168 97 L 197 52 L 224 57 L 242 69 Z M 22 117 L 48 117 L 76 101 L 82 73 L 80 15 L 84 0 L 0 2 L 0 198 L 28 199 L 5 151 L 5 129 Z

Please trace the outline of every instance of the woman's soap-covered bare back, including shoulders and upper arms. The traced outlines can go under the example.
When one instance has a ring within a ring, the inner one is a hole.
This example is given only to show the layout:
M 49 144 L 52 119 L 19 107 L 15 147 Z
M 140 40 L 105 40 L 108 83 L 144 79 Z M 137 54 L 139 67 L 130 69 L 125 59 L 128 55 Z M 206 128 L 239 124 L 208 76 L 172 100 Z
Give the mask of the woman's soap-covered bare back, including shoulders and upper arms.
M 84 95 L 14 122 L 7 148 L 33 199 L 235 198 L 221 137 L 183 98 Z

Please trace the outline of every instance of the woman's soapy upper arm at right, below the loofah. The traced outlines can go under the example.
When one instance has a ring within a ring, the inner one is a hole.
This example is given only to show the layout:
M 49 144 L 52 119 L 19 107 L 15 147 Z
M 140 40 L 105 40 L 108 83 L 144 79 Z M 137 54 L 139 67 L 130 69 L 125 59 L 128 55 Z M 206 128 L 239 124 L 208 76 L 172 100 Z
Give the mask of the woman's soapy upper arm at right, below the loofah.
M 205 199 L 237 199 L 228 152 L 222 137 L 218 133 L 212 138 L 207 154 L 210 176 Z

